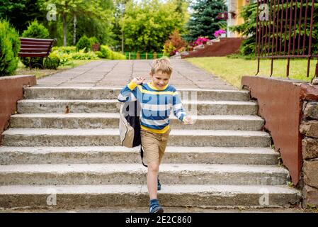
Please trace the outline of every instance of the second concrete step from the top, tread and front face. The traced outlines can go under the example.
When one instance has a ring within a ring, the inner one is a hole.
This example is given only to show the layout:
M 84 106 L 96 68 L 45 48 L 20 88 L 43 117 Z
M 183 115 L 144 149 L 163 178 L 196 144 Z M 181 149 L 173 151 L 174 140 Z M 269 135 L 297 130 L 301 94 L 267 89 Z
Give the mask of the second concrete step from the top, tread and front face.
M 117 100 L 38 100 L 18 101 L 18 113 L 119 113 Z M 67 108 L 68 106 L 68 108 Z M 258 106 L 252 101 L 183 101 L 186 111 L 192 115 L 256 115 Z

